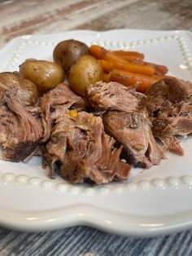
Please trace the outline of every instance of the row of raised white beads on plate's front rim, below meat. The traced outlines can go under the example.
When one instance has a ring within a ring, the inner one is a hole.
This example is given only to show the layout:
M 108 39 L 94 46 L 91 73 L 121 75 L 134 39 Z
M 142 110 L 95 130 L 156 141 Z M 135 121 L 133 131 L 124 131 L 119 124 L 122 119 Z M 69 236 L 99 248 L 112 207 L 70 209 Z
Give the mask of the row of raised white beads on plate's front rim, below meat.
M 54 189 L 56 192 L 68 192 L 70 194 L 83 194 L 84 196 L 103 195 L 107 196 L 110 192 L 122 194 L 123 192 L 136 192 L 139 189 L 151 190 L 172 188 L 178 189 L 181 186 L 192 189 L 192 176 L 184 175 L 181 177 L 167 177 L 165 179 L 142 180 L 137 183 L 110 183 L 110 186 L 100 185 L 97 187 L 85 187 L 51 179 L 41 179 L 31 177 L 27 174 L 0 173 L 0 183 L 13 184 L 17 187 L 27 186 L 28 188 Z

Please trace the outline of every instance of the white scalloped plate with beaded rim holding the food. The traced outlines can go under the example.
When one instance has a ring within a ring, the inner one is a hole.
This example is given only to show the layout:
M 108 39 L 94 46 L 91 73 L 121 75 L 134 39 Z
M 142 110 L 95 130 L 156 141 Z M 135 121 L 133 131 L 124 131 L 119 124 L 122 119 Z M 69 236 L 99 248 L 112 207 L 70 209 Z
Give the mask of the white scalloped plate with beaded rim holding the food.
M 57 42 L 74 38 L 88 45 L 142 51 L 146 60 L 165 64 L 170 74 L 192 80 L 192 35 L 185 31 L 72 31 L 24 36 L 0 51 L 0 71 L 18 70 L 27 58 L 52 60 Z M 44 231 L 85 224 L 130 236 L 156 236 L 192 227 L 192 137 L 182 139 L 185 157 L 151 170 L 133 169 L 128 182 L 103 186 L 70 185 L 47 178 L 41 160 L 0 161 L 0 224 Z

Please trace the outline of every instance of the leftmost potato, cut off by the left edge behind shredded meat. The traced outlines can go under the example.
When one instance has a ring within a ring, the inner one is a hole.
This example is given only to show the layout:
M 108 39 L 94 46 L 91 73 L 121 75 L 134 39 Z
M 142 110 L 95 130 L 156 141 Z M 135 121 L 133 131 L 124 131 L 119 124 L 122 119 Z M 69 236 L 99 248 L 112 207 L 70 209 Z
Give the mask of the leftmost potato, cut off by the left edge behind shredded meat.
M 37 103 L 39 96 L 37 86 L 28 79 L 20 77 L 17 73 L 2 72 L 0 73 L 0 82 L 15 90 L 24 105 L 34 105 Z

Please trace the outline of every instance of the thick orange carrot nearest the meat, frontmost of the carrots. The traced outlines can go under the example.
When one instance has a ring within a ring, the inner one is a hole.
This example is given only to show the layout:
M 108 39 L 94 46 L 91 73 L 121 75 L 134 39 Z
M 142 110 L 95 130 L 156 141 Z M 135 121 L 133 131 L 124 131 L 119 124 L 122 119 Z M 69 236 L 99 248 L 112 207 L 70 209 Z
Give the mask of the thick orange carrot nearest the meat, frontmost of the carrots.
M 155 82 L 161 80 L 162 76 L 146 76 L 138 73 L 131 73 L 122 69 L 113 69 L 110 72 L 110 80 L 120 82 L 124 86 L 137 86 L 137 91 L 146 92 L 146 90 Z

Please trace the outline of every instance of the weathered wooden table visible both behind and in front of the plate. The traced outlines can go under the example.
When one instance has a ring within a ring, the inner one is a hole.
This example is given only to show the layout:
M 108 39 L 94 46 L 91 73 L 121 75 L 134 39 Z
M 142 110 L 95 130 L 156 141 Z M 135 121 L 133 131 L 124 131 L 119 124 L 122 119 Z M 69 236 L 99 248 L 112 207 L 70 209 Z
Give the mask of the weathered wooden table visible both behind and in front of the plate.
M 187 29 L 191 0 L 0 0 L 0 46 L 28 33 L 70 29 Z M 2 60 L 1 60 L 2 61 Z M 0 228 L 0 255 L 192 255 L 192 231 L 137 239 L 90 227 L 26 233 Z

